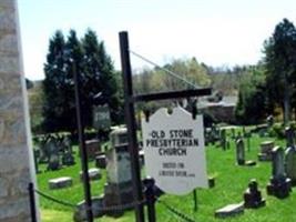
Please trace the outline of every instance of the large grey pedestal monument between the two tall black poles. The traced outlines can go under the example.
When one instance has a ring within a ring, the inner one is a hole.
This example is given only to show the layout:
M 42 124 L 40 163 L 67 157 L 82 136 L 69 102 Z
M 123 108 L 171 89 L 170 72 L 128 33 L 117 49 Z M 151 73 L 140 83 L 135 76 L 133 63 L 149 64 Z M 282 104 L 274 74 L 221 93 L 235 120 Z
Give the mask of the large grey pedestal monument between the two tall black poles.
M 104 185 L 104 205 L 106 208 L 131 203 L 134 200 L 126 128 L 112 131 L 110 141 L 112 148 L 105 153 L 106 184 Z M 108 213 L 113 215 L 120 212 L 110 211 Z

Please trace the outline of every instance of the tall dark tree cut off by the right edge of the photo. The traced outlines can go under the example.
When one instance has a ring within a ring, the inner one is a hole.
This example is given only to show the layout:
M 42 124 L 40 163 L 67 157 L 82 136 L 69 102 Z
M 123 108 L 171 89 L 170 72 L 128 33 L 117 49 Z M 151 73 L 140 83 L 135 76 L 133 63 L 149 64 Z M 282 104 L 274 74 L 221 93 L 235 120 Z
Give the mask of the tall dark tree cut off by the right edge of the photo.
M 296 29 L 284 19 L 264 43 L 268 99 L 279 104 L 284 122 L 290 120 L 290 99 L 296 82 Z

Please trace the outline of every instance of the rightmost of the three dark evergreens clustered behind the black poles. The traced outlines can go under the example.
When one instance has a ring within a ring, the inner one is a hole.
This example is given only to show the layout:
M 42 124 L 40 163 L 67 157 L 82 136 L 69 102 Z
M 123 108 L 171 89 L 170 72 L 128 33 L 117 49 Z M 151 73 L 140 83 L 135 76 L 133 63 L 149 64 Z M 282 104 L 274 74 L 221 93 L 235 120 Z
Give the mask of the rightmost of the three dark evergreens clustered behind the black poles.
M 94 31 L 88 30 L 82 39 L 84 49 L 84 81 L 83 95 L 86 103 L 85 109 L 92 108 L 93 98 L 101 93 L 100 100 L 106 103 L 111 110 L 111 119 L 119 123 L 123 120 L 123 105 L 121 90 L 121 78 L 119 72 L 115 72 L 111 57 L 106 53 L 104 42 L 98 41 Z M 91 113 L 91 110 L 88 110 Z M 88 115 L 86 122 L 91 124 L 91 114 Z

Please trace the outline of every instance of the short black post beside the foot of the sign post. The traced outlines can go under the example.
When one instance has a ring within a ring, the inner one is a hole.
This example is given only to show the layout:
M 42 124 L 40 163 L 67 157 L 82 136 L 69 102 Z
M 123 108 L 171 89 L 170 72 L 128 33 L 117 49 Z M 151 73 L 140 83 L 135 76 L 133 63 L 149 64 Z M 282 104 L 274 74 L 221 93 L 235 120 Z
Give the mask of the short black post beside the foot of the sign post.
M 144 180 L 145 184 L 145 196 L 146 196 L 146 205 L 147 205 L 147 219 L 149 222 L 156 222 L 155 214 L 155 193 L 154 193 L 154 184 L 155 181 L 152 178 L 147 178 Z

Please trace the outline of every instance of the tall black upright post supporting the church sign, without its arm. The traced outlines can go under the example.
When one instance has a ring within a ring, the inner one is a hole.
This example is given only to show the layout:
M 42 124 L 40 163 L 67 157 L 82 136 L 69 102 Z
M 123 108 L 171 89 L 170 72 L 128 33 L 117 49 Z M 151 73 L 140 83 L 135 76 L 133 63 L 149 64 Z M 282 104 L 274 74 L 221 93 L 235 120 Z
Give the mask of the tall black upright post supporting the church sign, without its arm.
M 136 143 L 134 104 L 132 101 L 133 85 L 132 85 L 130 52 L 129 52 L 129 37 L 126 31 L 120 32 L 119 36 L 120 36 L 121 65 L 122 65 L 123 89 L 124 89 L 125 120 L 129 134 L 127 135 L 129 152 L 131 155 L 133 194 L 134 194 L 134 200 L 140 203 L 143 200 L 143 192 L 142 192 L 141 171 L 139 163 L 139 149 Z M 144 222 L 143 204 L 135 205 L 135 218 L 136 222 Z

